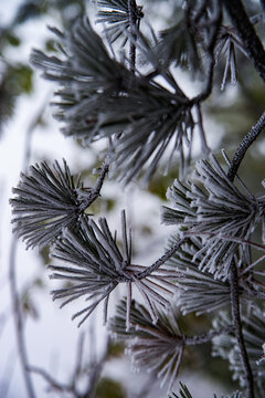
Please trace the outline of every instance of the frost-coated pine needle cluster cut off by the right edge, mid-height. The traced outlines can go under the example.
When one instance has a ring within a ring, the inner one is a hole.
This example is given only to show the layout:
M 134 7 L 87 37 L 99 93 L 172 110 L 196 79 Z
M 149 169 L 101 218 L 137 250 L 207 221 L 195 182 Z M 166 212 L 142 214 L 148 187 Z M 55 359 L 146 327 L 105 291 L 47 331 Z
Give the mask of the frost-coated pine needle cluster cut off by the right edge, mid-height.
M 211 161 L 197 163 L 191 182 L 174 181 L 168 190 L 174 209 L 162 209 L 165 223 L 178 224 L 184 233 L 202 238 L 194 260 L 200 258 L 200 270 L 223 280 L 241 241 L 250 239 L 259 221 L 264 229 L 264 196 L 256 198 L 240 179 L 239 184 L 241 190 L 212 156 Z M 247 250 L 247 245 L 242 244 L 242 249 Z

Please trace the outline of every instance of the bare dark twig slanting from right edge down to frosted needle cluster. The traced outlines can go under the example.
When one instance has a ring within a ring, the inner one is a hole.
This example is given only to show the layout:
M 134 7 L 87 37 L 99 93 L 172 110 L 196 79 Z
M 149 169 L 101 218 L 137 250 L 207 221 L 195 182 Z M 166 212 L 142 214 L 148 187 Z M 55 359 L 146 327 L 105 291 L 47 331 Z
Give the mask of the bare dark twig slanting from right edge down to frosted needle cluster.
M 252 127 L 250 133 L 244 137 L 241 145 L 239 146 L 239 148 L 234 155 L 234 158 L 231 163 L 229 172 L 227 172 L 229 179 L 233 180 L 235 178 L 235 175 L 239 170 L 239 167 L 240 167 L 247 149 L 254 143 L 254 140 L 258 137 L 258 135 L 263 132 L 264 127 L 265 127 L 265 112 L 262 114 L 262 116 L 259 117 L 259 119 L 257 121 L 255 126 Z

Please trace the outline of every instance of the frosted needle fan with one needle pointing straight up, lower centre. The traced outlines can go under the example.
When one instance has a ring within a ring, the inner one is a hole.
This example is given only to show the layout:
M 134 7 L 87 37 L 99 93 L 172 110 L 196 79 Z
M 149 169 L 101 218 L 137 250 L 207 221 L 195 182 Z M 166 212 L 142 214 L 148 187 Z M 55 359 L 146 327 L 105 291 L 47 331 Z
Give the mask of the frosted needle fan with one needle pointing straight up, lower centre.
M 84 214 L 81 217 L 80 229 L 65 230 L 53 248 L 52 258 L 63 260 L 64 263 L 50 265 L 53 270 L 51 277 L 71 283 L 70 286 L 54 290 L 53 298 L 64 300 L 62 306 L 81 296 L 89 303 L 73 316 L 82 316 L 80 325 L 102 301 L 105 301 L 106 321 L 109 294 L 119 283 L 127 284 L 127 328 L 130 325 L 131 285 L 144 297 L 153 323 L 158 320 L 157 306 L 167 307 L 169 302 L 166 297 L 172 297 L 176 291 L 172 279 L 176 280 L 178 274 L 167 268 L 138 279 L 145 268 L 131 263 L 131 242 L 127 237 L 125 211 L 121 213 L 121 231 L 120 250 L 105 218 L 99 218 L 96 223 Z

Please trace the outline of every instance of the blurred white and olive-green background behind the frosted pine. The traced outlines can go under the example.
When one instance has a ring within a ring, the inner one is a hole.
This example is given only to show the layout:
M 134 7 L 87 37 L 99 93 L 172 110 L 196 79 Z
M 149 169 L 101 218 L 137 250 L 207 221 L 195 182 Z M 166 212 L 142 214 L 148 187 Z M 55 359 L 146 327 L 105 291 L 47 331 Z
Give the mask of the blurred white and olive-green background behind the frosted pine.
M 144 12 L 156 29 L 170 27 L 178 18 L 178 1 L 145 1 Z M 257 1 L 248 1 L 250 14 L 258 11 Z M 107 345 L 107 333 L 102 325 L 100 307 L 81 329 L 71 321 L 75 305 L 63 310 L 53 303 L 50 291 L 54 287 L 49 280 L 47 250 L 39 253 L 25 251 L 11 233 L 11 210 L 9 198 L 12 186 L 19 181 L 21 170 L 40 160 L 52 163 L 65 158 L 73 174 L 82 172 L 87 186 L 95 181 L 92 169 L 102 158 L 98 155 L 102 143 L 82 147 L 78 142 L 65 138 L 60 126 L 52 118 L 49 102 L 53 84 L 41 80 L 32 70 L 29 56 L 32 48 L 46 52 L 54 50 L 47 25 L 71 29 L 73 21 L 82 13 L 95 19 L 97 7 L 85 0 L 0 0 L 0 397 L 28 397 L 18 349 L 18 331 L 13 316 L 12 286 L 15 285 L 24 322 L 24 342 L 28 360 L 42 371 L 32 374 L 36 397 L 71 397 L 67 389 L 59 391 L 45 380 L 44 371 L 63 385 L 82 386 L 87 373 L 102 368 L 97 384 L 97 398 L 166 397 L 166 391 L 155 389 L 147 394 L 150 383 L 148 375 L 132 371 L 124 356 L 121 344 Z M 99 29 L 99 27 L 96 27 Z M 257 27 L 257 29 L 259 29 Z M 221 67 L 215 77 L 214 93 L 204 106 L 205 130 L 214 153 L 225 148 L 230 157 L 241 139 L 256 123 L 265 106 L 264 90 L 251 63 L 239 53 L 239 85 L 227 83 L 221 92 Z M 224 61 L 223 61 L 224 67 Z M 193 95 L 201 87 L 187 71 L 179 71 L 179 82 L 184 91 Z M 233 82 L 234 83 L 234 82 Z M 264 178 L 265 139 L 248 151 L 241 168 L 241 177 L 255 192 L 262 192 Z M 194 154 L 200 155 L 195 147 Z M 124 191 L 115 181 L 107 181 L 102 198 L 93 205 L 93 212 L 105 216 L 113 230 L 119 229 L 120 210 L 126 209 L 134 237 L 136 261 L 150 264 L 161 255 L 169 227 L 160 224 L 159 209 L 166 202 L 166 191 L 178 176 L 178 166 L 172 166 L 165 177 L 158 172 L 148 189 L 139 186 Z M 14 277 L 15 275 L 15 277 Z M 123 292 L 115 293 L 117 300 Z M 110 313 L 114 308 L 110 307 Z M 182 326 L 188 333 L 203 333 L 209 325 L 206 316 L 187 316 Z M 83 353 L 83 373 L 78 362 Z M 99 365 L 100 366 L 99 366 Z M 204 371 L 202 369 L 205 369 Z M 40 374 L 42 373 L 42 374 Z M 209 380 L 209 386 L 204 379 Z M 212 397 L 236 389 L 230 378 L 226 364 L 211 358 L 211 347 L 202 346 L 188 350 L 181 368 L 180 380 L 187 383 L 194 397 Z M 49 387 L 50 386 L 50 387 Z M 176 387 L 177 391 L 177 387 Z

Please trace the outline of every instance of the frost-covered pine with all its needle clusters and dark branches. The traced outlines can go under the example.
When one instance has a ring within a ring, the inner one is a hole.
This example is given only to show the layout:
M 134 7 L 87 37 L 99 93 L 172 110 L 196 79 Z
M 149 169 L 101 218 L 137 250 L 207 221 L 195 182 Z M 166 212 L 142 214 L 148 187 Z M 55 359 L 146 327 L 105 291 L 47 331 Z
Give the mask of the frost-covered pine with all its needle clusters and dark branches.
M 230 397 L 264 397 L 265 196 L 246 187 L 240 166 L 264 130 L 265 113 L 231 159 L 225 150 L 212 154 L 203 127 L 204 103 L 229 87 L 229 77 L 235 84 L 252 64 L 259 84 L 265 81 L 264 36 L 257 33 L 265 2 L 246 3 L 176 1 L 173 24 L 157 32 L 145 4 L 98 0 L 100 34 L 83 15 L 66 31 L 51 28 L 56 53 L 31 55 L 43 77 L 57 83 L 53 107 L 62 133 L 84 146 L 104 138 L 108 144 L 88 189 L 65 160 L 23 172 L 11 199 L 14 231 L 28 248 L 51 248 L 51 277 L 68 282 L 53 297 L 62 306 L 85 298 L 73 315 L 78 325 L 104 302 L 105 323 L 125 342 L 134 366 L 160 378 L 169 391 L 189 346 L 211 342 L 212 354 L 227 360 L 240 383 L 242 391 Z M 181 88 L 179 69 L 202 82 L 193 97 Z M 194 137 L 201 143 L 197 163 Z M 135 264 L 125 211 L 118 240 L 89 207 L 105 179 L 147 187 L 161 166 L 167 171 L 176 164 L 171 205 L 161 210 L 162 222 L 176 232 L 157 261 Z M 127 295 L 108 318 L 110 293 L 119 284 Z M 132 286 L 141 303 L 132 298 Z M 208 333 L 184 333 L 189 313 L 209 314 Z M 180 384 L 171 397 L 192 396 Z

